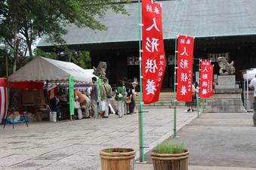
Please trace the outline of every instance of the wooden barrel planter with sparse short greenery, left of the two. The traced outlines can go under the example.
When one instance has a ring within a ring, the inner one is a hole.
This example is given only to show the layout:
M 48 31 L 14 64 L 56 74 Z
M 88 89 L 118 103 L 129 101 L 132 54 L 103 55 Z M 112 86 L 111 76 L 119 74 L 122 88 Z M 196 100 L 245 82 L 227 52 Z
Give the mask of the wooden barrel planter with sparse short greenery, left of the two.
M 102 170 L 134 170 L 136 150 L 131 148 L 107 148 L 100 150 Z

